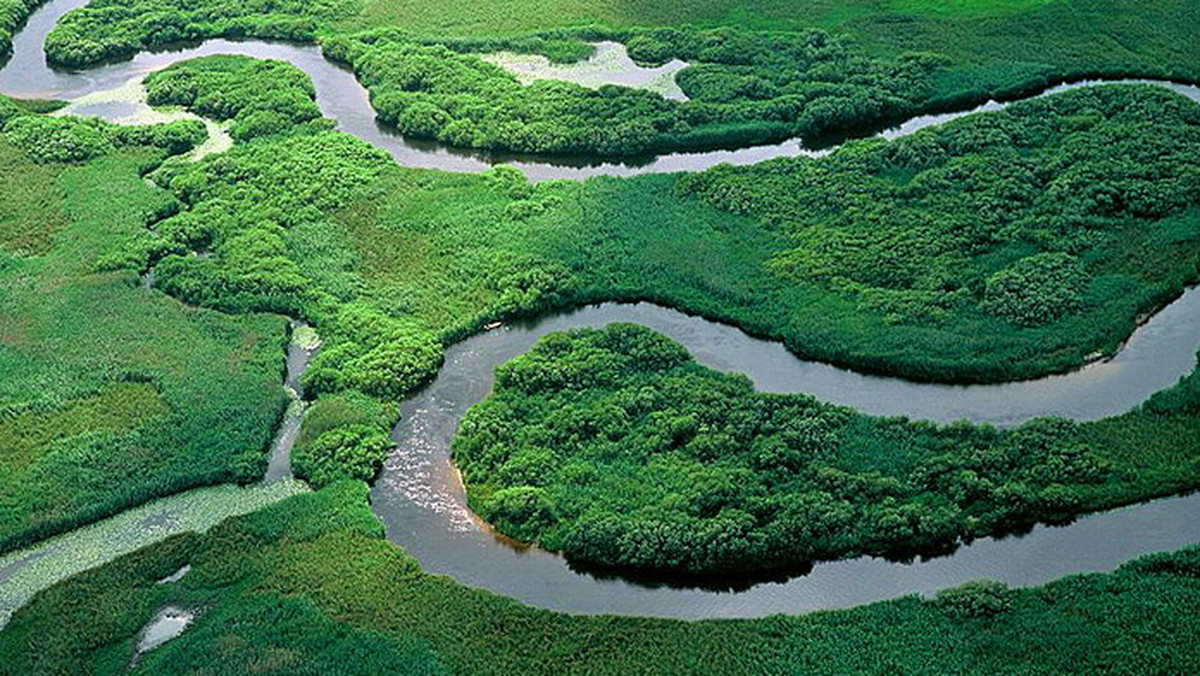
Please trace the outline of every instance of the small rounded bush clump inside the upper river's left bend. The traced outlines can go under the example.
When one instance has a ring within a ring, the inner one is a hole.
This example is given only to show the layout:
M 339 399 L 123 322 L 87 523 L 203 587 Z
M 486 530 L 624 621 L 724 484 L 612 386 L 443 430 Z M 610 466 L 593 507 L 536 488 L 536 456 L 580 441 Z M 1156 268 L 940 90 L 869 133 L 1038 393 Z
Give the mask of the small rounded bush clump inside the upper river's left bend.
M 145 79 L 152 106 L 184 106 L 215 120 L 233 120 L 238 140 L 292 132 L 320 118 L 308 76 L 283 61 L 206 56 L 180 61 Z

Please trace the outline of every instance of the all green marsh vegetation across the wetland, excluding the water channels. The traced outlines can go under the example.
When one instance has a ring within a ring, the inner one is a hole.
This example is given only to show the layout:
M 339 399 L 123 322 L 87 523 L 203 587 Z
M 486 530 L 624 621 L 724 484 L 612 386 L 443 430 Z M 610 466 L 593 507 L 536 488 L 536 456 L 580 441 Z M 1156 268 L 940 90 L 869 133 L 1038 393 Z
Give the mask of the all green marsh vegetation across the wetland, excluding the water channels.
M 408 137 L 593 158 L 839 139 L 1064 79 L 1200 82 L 1186 0 L 794 5 L 94 0 L 44 48 L 86 67 L 210 37 L 318 42 Z M 0 54 L 34 6 L 0 0 Z M 688 61 L 685 100 L 522 84 L 481 58 L 577 62 L 602 40 L 641 65 Z M 335 131 L 289 64 L 216 55 L 144 85 L 152 104 L 226 125 L 233 146 L 192 161 L 198 120 L 120 126 L 0 96 L 0 555 L 259 480 L 288 405 L 289 321 L 324 341 L 294 456 L 319 490 L 43 588 L 115 552 L 47 558 L 53 575 L 0 593 L 42 590 L 0 632 L 0 674 L 125 670 L 164 608 L 194 622 L 138 669 L 1200 669 L 1195 548 L 1032 590 L 976 582 L 806 616 L 569 616 L 421 572 L 383 540 L 364 484 L 392 451 L 396 403 L 448 345 L 588 303 L 654 301 L 920 381 L 1033 378 L 1112 354 L 1200 280 L 1200 107 L 1184 97 L 1087 88 L 824 157 L 535 185 L 505 167 L 398 167 Z M 1196 378 L 1094 423 L 938 426 L 755 393 L 612 327 L 504 366 L 456 454 L 472 504 L 517 538 L 622 568 L 774 569 L 1194 489 Z M 265 486 L 197 524 L 296 490 Z M 158 539 L 143 536 L 128 542 Z

